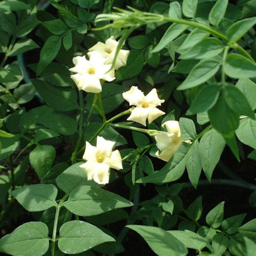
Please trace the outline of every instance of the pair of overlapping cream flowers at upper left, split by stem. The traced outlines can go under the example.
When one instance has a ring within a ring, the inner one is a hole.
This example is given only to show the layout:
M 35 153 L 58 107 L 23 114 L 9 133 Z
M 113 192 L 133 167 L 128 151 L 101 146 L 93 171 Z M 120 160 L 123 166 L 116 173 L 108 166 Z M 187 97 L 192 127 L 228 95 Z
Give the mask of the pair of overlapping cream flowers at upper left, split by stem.
M 105 43 L 98 42 L 89 49 L 89 60 L 85 56 L 73 58 L 74 67 L 69 70 L 76 73 L 71 75 L 79 90 L 86 92 L 101 92 L 101 80 L 111 82 L 115 79 L 115 71 L 123 65 L 129 55 L 129 51 L 120 50 L 115 60 L 114 69 L 111 65 L 114 60 L 118 42 L 109 38 Z

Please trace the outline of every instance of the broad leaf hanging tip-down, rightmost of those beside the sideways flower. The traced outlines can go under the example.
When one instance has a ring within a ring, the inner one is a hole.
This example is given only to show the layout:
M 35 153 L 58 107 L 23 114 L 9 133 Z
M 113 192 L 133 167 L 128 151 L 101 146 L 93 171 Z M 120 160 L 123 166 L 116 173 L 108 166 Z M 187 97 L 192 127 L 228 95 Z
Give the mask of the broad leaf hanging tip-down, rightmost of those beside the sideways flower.
M 199 153 L 202 168 L 209 181 L 211 180 L 214 168 L 220 160 L 225 145 L 226 142 L 223 137 L 214 129 L 204 133 L 200 140 Z

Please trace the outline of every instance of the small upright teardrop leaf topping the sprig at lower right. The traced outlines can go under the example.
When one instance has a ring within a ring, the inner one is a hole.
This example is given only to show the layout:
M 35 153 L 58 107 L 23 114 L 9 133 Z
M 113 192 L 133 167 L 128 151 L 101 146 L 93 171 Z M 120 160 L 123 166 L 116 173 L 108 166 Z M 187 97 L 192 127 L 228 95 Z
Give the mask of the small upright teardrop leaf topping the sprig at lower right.
M 205 217 L 205 220 L 208 225 L 217 229 L 223 220 L 224 215 L 224 202 L 220 202 L 220 204 L 216 205 Z

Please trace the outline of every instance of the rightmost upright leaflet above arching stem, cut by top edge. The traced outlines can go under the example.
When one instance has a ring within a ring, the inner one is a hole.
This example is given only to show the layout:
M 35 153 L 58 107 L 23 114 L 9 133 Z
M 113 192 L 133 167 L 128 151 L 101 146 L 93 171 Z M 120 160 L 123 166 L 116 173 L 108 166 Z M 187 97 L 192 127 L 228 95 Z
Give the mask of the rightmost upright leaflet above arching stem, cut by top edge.
M 229 4 L 229 0 L 218 0 L 216 4 L 214 4 L 209 13 L 209 21 L 211 24 L 218 26 L 218 23 L 223 20 L 227 4 Z

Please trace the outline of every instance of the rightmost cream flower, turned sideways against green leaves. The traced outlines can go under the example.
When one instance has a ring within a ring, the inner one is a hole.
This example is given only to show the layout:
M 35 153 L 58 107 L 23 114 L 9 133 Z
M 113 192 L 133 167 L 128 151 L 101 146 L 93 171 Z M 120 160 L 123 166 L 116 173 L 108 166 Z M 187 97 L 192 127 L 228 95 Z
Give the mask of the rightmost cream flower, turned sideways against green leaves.
M 178 121 L 166 121 L 162 126 L 166 126 L 167 132 L 159 132 L 155 135 L 157 148 L 161 151 L 157 151 L 155 155 L 168 162 L 183 140 Z M 191 143 L 190 141 L 185 142 Z

